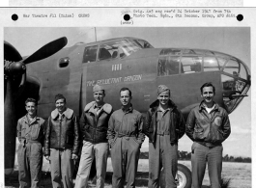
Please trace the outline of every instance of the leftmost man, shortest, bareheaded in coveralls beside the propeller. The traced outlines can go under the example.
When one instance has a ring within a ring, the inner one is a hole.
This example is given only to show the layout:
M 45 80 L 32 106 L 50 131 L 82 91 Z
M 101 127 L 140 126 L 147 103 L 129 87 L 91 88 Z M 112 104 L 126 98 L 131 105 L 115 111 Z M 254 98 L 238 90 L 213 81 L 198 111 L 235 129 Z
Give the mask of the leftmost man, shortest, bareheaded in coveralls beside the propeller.
M 25 101 L 27 114 L 17 121 L 19 141 L 19 187 L 40 187 L 43 165 L 44 120 L 37 116 L 38 102 L 34 98 Z

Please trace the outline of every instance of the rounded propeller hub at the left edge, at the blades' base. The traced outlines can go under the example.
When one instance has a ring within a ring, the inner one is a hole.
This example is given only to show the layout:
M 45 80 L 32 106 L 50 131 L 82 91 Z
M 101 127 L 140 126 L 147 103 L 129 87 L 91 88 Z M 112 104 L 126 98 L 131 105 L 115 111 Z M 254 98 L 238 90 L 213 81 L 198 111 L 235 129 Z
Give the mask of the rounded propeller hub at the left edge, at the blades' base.
M 18 76 L 26 71 L 26 66 L 22 62 L 10 62 L 5 60 L 5 73 L 12 76 Z

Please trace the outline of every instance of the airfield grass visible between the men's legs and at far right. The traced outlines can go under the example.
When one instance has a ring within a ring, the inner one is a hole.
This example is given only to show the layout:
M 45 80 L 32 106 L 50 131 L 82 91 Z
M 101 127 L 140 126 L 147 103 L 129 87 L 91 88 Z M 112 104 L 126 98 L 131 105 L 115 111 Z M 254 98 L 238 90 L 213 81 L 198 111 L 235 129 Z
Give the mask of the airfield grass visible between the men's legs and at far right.
M 179 161 L 179 163 L 185 165 L 191 170 L 190 161 Z M 50 168 L 49 163 L 43 160 L 43 178 L 42 178 L 42 188 L 51 188 L 51 178 L 50 178 Z M 138 164 L 138 173 L 136 175 L 136 187 L 146 188 L 148 185 L 149 176 L 148 159 L 140 159 Z M 230 188 L 250 188 L 251 187 L 251 163 L 232 163 L 223 162 L 222 167 L 222 177 L 230 179 Z M 108 158 L 107 163 L 107 173 L 105 178 L 105 188 L 111 188 L 112 180 L 112 166 L 111 160 Z M 18 172 L 15 167 L 14 174 L 5 178 L 5 187 L 8 188 L 18 188 Z M 73 180 L 74 181 L 74 180 Z M 203 181 L 203 188 L 210 188 L 210 181 L 208 170 Z M 89 188 L 95 188 L 95 181 L 90 181 Z

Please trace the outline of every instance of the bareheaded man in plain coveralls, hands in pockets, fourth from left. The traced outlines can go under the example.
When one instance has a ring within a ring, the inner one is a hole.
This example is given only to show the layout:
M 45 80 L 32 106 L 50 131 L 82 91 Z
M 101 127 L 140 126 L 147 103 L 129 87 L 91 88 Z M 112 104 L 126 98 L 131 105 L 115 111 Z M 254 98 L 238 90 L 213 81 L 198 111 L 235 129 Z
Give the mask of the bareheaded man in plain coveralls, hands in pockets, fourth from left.
M 115 111 L 108 122 L 108 143 L 111 147 L 113 167 L 112 187 L 135 187 L 135 176 L 141 145 L 145 139 L 142 115 L 133 109 L 131 92 L 120 90 L 121 109 Z

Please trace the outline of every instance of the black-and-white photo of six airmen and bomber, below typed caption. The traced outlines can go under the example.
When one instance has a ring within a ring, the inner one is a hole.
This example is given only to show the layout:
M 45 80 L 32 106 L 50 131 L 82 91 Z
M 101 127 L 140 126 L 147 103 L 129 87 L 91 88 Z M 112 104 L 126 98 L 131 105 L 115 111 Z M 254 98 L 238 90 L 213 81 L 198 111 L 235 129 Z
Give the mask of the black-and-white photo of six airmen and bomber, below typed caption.
M 252 187 L 250 25 L 50 25 L 3 26 L 5 187 Z

